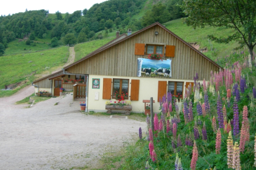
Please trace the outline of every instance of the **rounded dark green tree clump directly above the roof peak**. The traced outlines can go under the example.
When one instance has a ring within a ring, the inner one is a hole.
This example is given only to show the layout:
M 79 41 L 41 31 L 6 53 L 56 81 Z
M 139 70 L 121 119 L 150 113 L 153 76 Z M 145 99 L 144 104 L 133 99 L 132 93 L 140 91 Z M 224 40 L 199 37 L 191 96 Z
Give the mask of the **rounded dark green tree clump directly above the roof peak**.
M 141 24 L 146 27 L 154 22 L 164 23 L 171 18 L 170 13 L 166 9 L 166 5 L 158 3 L 148 10 L 141 19 Z

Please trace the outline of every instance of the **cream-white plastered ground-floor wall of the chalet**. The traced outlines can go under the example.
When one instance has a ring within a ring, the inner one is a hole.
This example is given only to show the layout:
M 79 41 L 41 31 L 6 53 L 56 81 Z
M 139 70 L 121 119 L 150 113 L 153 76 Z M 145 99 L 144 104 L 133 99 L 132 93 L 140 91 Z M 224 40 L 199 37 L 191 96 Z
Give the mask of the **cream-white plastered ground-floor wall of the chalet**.
M 100 78 L 100 89 L 92 89 L 92 79 Z M 109 100 L 102 99 L 102 89 L 103 89 L 103 78 L 125 78 L 131 80 L 140 80 L 140 91 L 139 91 L 139 100 L 132 101 L 132 112 L 144 112 L 144 103 L 143 100 L 150 100 L 153 97 L 155 103 L 153 104 L 154 112 L 159 112 L 159 102 L 157 101 L 158 96 L 158 81 L 183 81 L 185 86 L 186 82 L 194 82 L 194 80 L 177 80 L 171 78 L 144 78 L 144 77 L 113 77 L 113 76 L 102 76 L 102 75 L 90 75 L 88 78 L 88 110 L 93 110 L 94 112 L 106 112 L 105 102 Z M 129 84 L 129 95 L 130 95 L 130 86 Z M 94 100 L 95 92 L 99 92 L 99 100 Z M 185 95 L 185 87 L 183 88 L 183 96 Z M 130 100 L 130 97 L 129 97 Z M 112 101 L 116 101 L 112 99 Z M 127 101 L 127 100 L 126 100 Z

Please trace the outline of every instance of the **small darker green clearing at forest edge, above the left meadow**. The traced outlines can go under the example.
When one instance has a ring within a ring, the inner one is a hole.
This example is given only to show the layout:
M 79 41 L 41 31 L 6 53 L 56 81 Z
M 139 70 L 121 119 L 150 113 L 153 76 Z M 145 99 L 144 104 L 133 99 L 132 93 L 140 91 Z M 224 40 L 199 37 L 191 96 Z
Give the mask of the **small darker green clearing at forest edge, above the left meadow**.
M 30 46 L 26 45 L 26 41 L 20 41 L 20 39 L 15 39 L 8 44 L 8 48 L 5 50 L 4 55 L 16 55 L 20 53 L 33 53 L 40 50 L 51 49 L 51 46 L 45 43 L 35 42 L 36 46 L 32 46 L 33 42 Z M 24 50 L 26 49 L 26 50 Z

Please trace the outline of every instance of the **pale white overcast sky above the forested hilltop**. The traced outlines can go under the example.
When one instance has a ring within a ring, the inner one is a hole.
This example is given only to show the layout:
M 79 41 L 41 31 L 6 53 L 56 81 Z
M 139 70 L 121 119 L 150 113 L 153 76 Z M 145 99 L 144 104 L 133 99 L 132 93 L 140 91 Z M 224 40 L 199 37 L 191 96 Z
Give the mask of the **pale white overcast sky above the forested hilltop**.
M 0 5 L 1 15 L 12 15 L 13 13 L 25 12 L 27 10 L 49 10 L 49 13 L 55 13 L 59 10 L 61 13 L 73 13 L 76 10 L 90 9 L 93 4 L 101 3 L 106 0 L 82 0 L 82 1 L 66 1 L 66 0 L 7 0 L 2 1 Z

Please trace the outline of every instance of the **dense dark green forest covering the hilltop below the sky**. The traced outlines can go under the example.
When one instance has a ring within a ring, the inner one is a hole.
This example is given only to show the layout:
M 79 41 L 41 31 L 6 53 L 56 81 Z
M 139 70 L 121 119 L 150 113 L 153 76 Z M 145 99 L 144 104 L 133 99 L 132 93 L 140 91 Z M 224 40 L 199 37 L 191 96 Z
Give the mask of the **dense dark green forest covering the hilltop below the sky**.
M 143 10 L 146 2 L 147 0 L 110 0 L 72 14 L 57 11 L 54 17 L 48 15 L 48 10 L 26 10 L 24 13 L 0 16 L 0 43 L 7 48 L 7 43 L 15 38 L 28 35 L 30 40 L 45 38 L 47 32 L 51 32 L 54 46 L 56 38 L 62 39 L 63 43 L 72 38 L 75 38 L 72 39 L 73 43 L 85 42 L 102 38 L 102 34 L 96 35 L 101 30 L 105 30 L 105 35 L 110 29 L 118 29 L 124 33 L 127 27 L 135 31 L 156 21 L 164 23 L 183 16 L 180 9 L 182 0 L 168 0 L 165 4 L 154 4 L 141 19 L 131 19 Z

